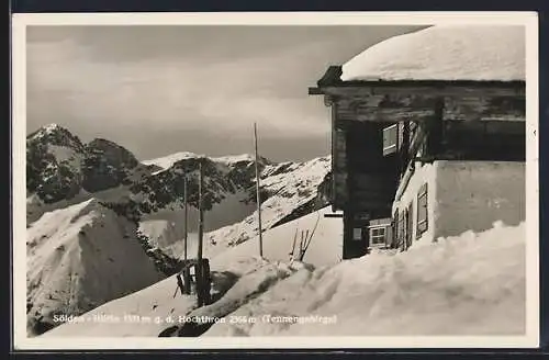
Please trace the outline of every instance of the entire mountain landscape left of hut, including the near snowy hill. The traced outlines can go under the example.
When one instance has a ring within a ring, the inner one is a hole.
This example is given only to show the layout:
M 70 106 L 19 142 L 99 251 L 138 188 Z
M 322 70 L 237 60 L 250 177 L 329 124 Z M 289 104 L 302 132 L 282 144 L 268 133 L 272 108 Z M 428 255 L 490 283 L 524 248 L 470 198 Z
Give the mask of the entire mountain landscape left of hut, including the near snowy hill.
M 116 265 L 120 277 L 110 286 L 120 288 L 121 294 L 125 294 L 147 285 L 147 281 L 137 286 L 132 283 L 136 263 L 150 270 L 146 279 L 150 279 L 150 273 L 161 278 L 177 271 L 186 227 L 186 179 L 189 254 L 195 254 L 199 164 L 204 171 L 204 256 L 215 256 L 257 236 L 255 157 L 249 154 L 221 157 L 191 154 L 168 156 L 171 162 L 163 168 L 155 159 L 137 160 L 128 149 L 105 138 L 83 144 L 58 125 L 45 126 L 27 136 L 27 317 L 31 333 L 55 326 L 52 316 L 61 310 L 67 315 L 79 314 L 116 296 L 117 293 L 112 292 L 104 295 L 103 290 L 94 285 L 82 288 L 83 297 L 71 296 L 75 289 L 80 289 L 72 280 L 67 280 L 75 278 L 74 273 L 90 273 L 91 278 L 87 277 L 86 281 L 78 280 L 86 283 L 110 283 L 109 277 L 92 269 Z M 329 157 L 278 164 L 260 157 L 264 230 L 326 205 L 329 162 Z M 79 207 L 86 211 L 70 215 L 76 223 L 64 220 L 64 214 L 71 214 Z M 107 233 L 105 224 L 110 224 Z M 122 228 L 126 230 L 121 233 Z M 93 240 L 88 243 L 82 238 L 86 234 L 99 235 L 91 236 Z M 42 244 L 38 252 L 33 250 L 37 239 Z M 85 243 L 88 244 L 86 249 L 91 246 L 103 255 L 94 259 L 87 250 L 88 260 L 82 259 L 78 254 L 83 254 L 79 249 Z M 111 243 L 117 244 L 116 247 L 112 248 Z M 54 246 L 56 244 L 63 246 Z M 115 259 L 108 254 L 111 250 L 133 255 L 128 255 L 127 261 L 112 262 L 109 259 Z M 75 279 L 85 279 L 82 277 Z M 55 286 L 47 285 L 49 280 L 41 280 L 46 278 L 55 280 Z M 58 294 L 66 296 L 55 302 Z

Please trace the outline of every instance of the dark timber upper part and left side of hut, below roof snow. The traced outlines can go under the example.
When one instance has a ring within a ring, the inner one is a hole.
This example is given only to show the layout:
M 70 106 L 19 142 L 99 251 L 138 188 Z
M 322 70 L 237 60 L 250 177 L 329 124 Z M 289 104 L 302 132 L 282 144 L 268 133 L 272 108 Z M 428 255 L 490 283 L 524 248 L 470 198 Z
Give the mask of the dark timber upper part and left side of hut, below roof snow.
M 404 249 L 427 229 L 427 183 L 414 204 L 395 209 L 418 167 L 525 161 L 525 81 L 341 81 L 340 75 L 339 66 L 329 67 L 309 93 L 332 108 L 332 205 L 344 213 L 344 259 L 367 254 L 372 220 L 391 217 L 386 233 Z

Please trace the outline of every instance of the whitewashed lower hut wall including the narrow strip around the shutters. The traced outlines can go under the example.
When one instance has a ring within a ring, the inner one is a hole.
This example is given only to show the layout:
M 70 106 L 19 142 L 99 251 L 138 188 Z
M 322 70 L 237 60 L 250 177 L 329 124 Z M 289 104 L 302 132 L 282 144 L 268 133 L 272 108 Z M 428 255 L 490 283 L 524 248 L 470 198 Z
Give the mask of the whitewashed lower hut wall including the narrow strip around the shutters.
M 495 221 L 518 225 L 525 220 L 525 164 L 514 161 L 416 162 L 395 209 L 413 203 L 413 239 L 432 241 L 468 229 L 482 232 Z M 428 228 L 416 238 L 417 193 L 427 183 Z

